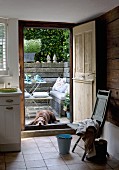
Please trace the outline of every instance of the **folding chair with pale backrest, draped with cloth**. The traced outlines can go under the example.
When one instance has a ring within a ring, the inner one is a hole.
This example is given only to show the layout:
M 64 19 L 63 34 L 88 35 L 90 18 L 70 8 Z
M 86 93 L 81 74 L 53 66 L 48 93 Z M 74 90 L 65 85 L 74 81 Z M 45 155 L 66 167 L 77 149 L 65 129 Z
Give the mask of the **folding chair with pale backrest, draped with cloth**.
M 99 123 L 99 132 L 95 138 L 99 138 L 101 135 L 101 132 L 102 132 L 102 129 L 104 126 L 104 122 L 105 122 L 105 116 L 106 116 L 107 104 L 109 101 L 109 97 L 110 97 L 110 91 L 98 90 L 97 97 L 96 97 L 96 103 L 95 103 L 94 110 L 93 110 L 93 113 L 91 116 L 91 119 L 96 120 Z M 77 130 L 78 123 L 69 123 L 68 126 L 74 130 Z M 74 150 L 81 138 L 82 138 L 82 136 L 79 136 L 78 140 L 76 141 L 76 143 L 72 149 L 72 152 L 74 152 Z M 109 156 L 108 153 L 107 153 L 107 155 Z M 85 156 L 86 156 L 86 151 L 83 154 L 82 161 L 84 161 Z

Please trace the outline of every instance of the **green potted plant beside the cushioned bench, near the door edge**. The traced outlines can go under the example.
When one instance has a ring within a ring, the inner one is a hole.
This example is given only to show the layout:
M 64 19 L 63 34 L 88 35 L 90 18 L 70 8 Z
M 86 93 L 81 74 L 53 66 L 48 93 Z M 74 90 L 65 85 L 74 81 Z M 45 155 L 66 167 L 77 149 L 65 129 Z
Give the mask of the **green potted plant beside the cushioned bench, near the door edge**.
M 70 95 L 68 93 L 63 103 L 63 110 L 66 112 L 67 118 L 70 119 Z

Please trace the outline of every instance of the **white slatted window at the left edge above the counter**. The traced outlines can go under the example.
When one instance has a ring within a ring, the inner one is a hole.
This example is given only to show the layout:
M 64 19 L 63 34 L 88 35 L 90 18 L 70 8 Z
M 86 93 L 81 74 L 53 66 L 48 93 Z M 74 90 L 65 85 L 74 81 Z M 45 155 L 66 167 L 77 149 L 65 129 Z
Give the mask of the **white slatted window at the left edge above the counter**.
M 8 74 L 7 67 L 7 19 L 0 18 L 0 75 Z

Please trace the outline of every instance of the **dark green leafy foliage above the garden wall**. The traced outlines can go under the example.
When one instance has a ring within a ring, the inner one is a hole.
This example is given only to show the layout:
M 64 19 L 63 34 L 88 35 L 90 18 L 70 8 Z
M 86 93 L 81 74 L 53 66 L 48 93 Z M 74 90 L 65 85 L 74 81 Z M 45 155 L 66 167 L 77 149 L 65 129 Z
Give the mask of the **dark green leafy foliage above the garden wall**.
M 69 29 L 24 29 L 24 38 L 26 40 L 41 40 L 40 49 L 36 52 L 34 58 L 35 61 L 46 60 L 47 55 L 50 55 L 52 60 L 54 54 L 56 55 L 58 62 L 68 61 L 69 35 Z

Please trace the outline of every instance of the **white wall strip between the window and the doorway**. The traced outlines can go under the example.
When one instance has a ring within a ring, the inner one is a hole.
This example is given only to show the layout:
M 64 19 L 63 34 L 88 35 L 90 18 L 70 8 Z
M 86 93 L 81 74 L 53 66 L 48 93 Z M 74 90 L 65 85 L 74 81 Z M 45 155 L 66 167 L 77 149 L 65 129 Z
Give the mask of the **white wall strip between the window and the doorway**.
M 8 19 L 8 67 L 11 77 L 0 77 L 0 82 L 8 82 L 19 87 L 18 20 Z

